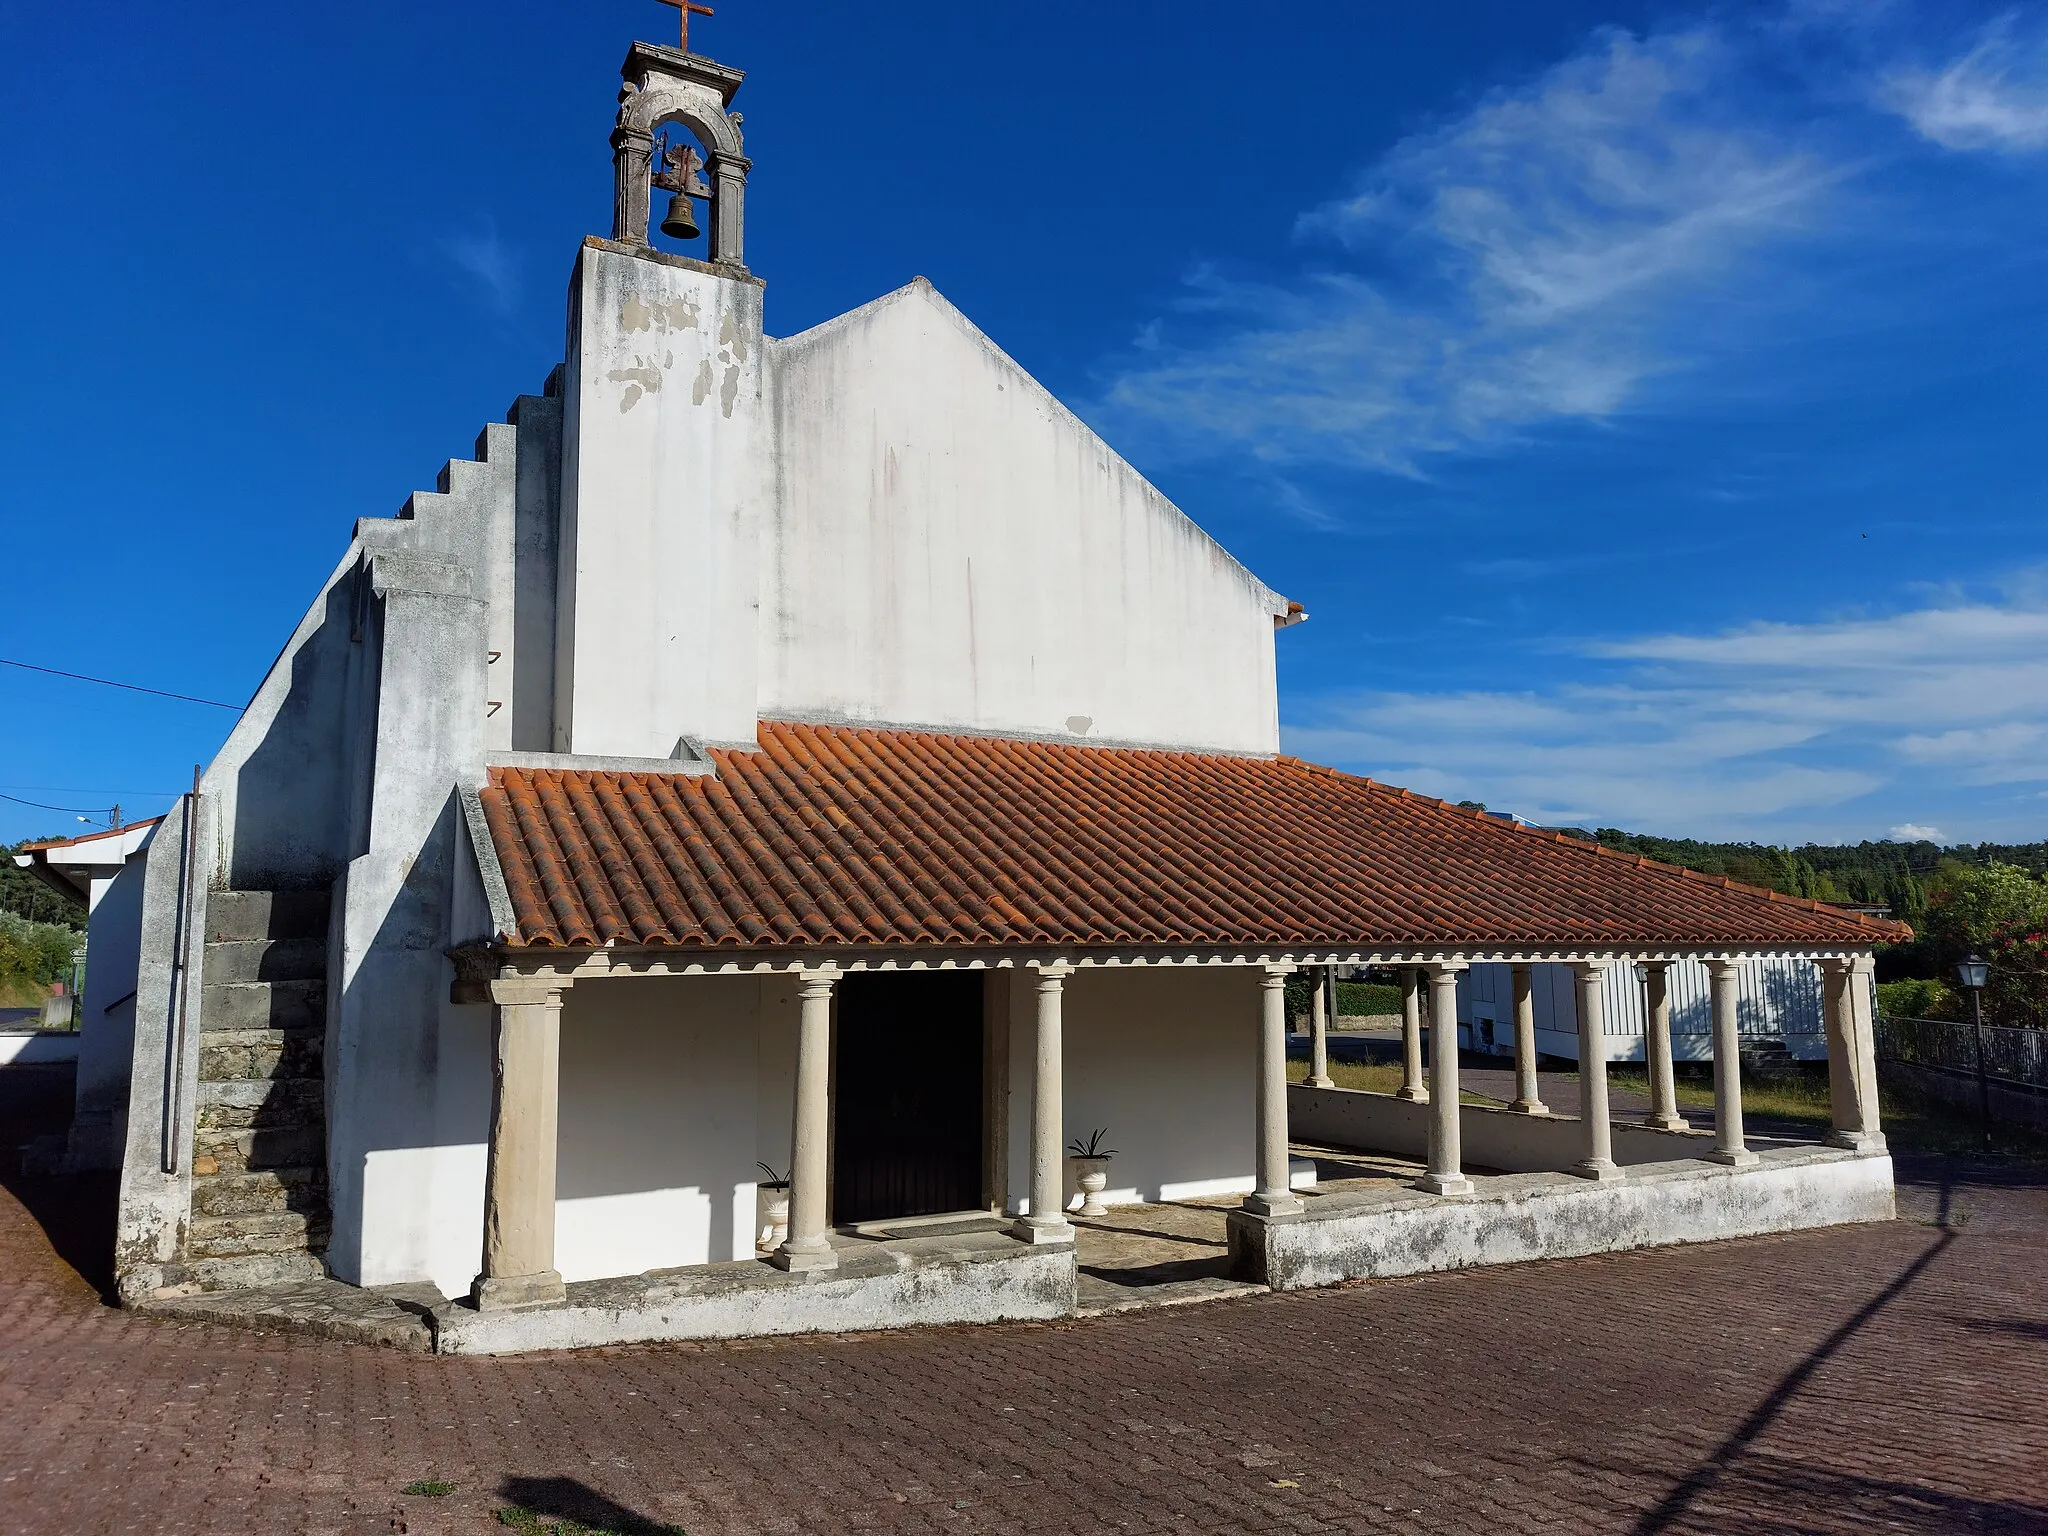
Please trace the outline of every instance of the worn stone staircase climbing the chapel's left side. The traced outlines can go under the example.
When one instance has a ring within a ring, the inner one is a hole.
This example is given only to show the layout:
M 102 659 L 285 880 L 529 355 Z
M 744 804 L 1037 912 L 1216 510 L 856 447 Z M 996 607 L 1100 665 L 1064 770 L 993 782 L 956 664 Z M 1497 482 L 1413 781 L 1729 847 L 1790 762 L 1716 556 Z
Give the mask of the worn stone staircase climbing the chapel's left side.
M 213 891 L 186 1270 L 207 1290 L 326 1274 L 328 893 Z

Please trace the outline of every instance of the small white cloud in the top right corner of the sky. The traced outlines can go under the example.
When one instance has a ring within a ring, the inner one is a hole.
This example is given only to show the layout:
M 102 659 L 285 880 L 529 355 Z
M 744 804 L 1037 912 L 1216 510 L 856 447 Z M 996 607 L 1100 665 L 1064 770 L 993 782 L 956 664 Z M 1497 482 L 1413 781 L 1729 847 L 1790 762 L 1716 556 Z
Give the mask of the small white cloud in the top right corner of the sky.
M 1999 16 L 1939 68 L 1886 72 L 1878 98 L 1944 150 L 2048 150 L 2048 29 Z

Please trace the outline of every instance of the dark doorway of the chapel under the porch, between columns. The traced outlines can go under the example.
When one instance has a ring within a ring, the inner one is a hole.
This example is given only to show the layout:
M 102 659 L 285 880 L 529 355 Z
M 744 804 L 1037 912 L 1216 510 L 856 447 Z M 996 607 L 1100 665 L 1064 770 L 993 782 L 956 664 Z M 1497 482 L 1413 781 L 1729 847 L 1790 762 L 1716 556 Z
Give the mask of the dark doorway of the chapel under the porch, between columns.
M 983 1204 L 979 971 L 846 977 L 836 1071 L 836 1223 Z

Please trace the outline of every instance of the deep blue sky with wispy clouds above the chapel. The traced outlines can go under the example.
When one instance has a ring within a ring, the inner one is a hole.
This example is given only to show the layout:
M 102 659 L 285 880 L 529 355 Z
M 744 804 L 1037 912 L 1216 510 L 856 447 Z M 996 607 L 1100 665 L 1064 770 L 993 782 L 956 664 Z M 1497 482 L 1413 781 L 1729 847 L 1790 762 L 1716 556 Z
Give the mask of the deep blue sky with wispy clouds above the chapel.
M 2048 836 L 2048 12 L 721 0 L 768 328 L 913 274 L 1313 621 L 1288 750 Z M 242 700 L 561 354 L 653 0 L 0 0 L 0 657 Z M 0 668 L 0 793 L 231 715 Z M 70 831 L 0 801 L 0 838 Z

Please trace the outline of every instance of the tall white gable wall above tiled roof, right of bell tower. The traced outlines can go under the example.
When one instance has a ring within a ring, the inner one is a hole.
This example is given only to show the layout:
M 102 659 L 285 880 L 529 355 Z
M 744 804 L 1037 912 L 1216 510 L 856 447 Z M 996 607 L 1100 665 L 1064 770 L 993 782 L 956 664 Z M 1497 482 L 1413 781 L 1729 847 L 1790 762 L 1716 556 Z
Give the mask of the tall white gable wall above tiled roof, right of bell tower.
M 1286 604 L 918 281 L 770 342 L 762 713 L 1278 745 Z

